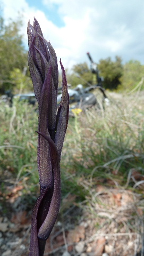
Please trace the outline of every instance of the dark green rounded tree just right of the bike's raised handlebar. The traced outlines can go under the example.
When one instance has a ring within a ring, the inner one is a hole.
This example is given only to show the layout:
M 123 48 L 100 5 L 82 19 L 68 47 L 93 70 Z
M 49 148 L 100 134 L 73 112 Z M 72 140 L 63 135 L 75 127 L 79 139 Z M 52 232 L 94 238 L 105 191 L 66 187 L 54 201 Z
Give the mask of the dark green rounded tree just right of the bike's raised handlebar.
M 115 61 L 111 58 L 105 60 L 101 59 L 98 64 L 98 70 L 100 76 L 104 77 L 103 86 L 106 89 L 114 90 L 121 84 L 121 77 L 123 75 L 122 59 L 118 56 L 115 57 Z

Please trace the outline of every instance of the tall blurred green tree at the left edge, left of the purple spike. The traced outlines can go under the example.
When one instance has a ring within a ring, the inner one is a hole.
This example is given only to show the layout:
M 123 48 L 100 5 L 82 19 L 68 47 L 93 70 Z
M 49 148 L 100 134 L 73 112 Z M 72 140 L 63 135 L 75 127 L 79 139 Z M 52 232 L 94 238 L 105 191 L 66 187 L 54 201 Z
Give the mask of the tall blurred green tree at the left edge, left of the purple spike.
M 11 71 L 18 68 L 23 71 L 28 66 L 27 52 L 24 50 L 22 35 L 19 34 L 22 22 L 11 21 L 4 25 L 0 18 L 0 93 L 13 89 Z

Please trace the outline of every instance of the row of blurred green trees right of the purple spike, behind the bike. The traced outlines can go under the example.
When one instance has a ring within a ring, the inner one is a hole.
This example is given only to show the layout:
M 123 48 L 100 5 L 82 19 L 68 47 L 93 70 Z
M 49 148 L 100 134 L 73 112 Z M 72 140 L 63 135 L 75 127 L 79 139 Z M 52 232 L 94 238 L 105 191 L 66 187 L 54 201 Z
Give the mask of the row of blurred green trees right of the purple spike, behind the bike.
M 87 63 L 74 65 L 73 73 L 67 72 L 67 81 L 75 87 L 82 84 L 84 87 L 89 84 L 96 84 L 96 75 L 91 73 Z M 143 79 L 144 65 L 137 60 L 130 60 L 122 64 L 120 57 L 115 57 L 112 61 L 110 57 L 101 59 L 98 63 L 99 75 L 104 78 L 103 86 L 105 89 L 118 91 L 131 91 Z M 143 80 L 142 80 L 143 81 Z M 141 84 L 143 89 L 143 82 Z

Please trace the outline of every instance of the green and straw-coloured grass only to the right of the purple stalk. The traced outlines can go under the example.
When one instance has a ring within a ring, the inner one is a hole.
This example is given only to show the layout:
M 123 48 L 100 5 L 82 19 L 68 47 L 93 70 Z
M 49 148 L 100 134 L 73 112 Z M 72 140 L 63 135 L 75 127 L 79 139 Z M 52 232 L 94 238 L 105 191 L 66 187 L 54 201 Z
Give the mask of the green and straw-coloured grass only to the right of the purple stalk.
M 105 111 L 90 109 L 70 119 L 62 166 L 77 183 L 90 179 L 100 185 L 108 179 L 110 185 L 137 189 L 131 174 L 144 170 L 143 97 L 109 96 Z

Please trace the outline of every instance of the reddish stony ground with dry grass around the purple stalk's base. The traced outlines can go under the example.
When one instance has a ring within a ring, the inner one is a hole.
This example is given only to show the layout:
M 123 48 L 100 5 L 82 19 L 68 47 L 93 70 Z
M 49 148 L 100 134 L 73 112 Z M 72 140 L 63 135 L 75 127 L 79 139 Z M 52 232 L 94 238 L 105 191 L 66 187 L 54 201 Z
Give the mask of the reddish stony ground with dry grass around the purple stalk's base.
M 31 211 L 23 205 L 22 185 L 7 189 L 9 193 L 1 193 L 0 252 L 2 256 L 26 256 Z M 92 200 L 86 198 L 83 203 L 76 203 L 74 195 L 63 200 L 44 255 L 143 255 L 143 195 L 101 185 L 91 193 Z

